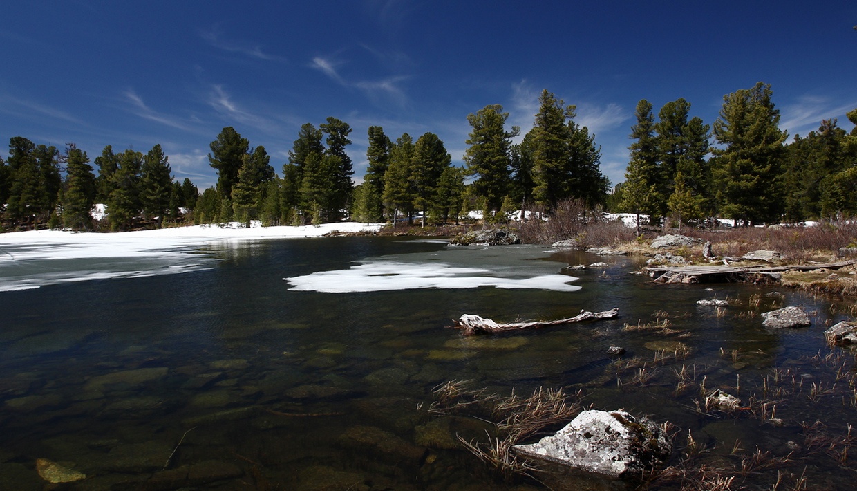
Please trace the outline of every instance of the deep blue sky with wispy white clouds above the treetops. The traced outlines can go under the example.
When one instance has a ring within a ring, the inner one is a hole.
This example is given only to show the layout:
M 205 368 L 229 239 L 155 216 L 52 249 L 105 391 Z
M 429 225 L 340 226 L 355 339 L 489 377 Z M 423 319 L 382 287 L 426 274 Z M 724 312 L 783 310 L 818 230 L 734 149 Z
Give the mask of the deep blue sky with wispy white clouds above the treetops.
M 156 143 L 174 175 L 213 184 L 208 145 L 233 126 L 280 171 L 303 123 L 431 131 L 461 164 L 466 117 L 500 104 L 522 134 L 543 88 L 577 105 L 624 180 L 639 99 L 683 97 L 713 123 L 724 94 L 770 83 L 791 136 L 857 107 L 857 3 L 8 2 L 0 21 L 0 155 L 25 136 L 97 157 Z

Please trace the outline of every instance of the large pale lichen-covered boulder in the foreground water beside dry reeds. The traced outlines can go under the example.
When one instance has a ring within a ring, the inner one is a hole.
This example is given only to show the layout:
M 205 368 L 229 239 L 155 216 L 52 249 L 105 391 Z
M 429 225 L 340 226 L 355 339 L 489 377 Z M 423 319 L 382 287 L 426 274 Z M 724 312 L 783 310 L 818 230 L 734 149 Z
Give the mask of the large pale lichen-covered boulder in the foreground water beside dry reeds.
M 624 479 L 662 463 L 673 444 L 662 428 L 644 417 L 624 410 L 586 410 L 553 436 L 512 449 L 525 458 Z

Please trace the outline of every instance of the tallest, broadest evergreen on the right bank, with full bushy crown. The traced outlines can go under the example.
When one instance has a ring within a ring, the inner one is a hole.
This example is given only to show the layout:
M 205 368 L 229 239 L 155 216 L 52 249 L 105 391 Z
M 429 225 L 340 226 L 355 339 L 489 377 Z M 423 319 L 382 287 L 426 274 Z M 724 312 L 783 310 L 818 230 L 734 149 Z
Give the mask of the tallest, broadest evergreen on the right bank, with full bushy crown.
M 782 142 L 780 111 L 771 102 L 770 85 L 758 82 L 723 96 L 714 136 L 722 148 L 712 149 L 712 172 L 720 212 L 746 225 L 775 220 L 782 210 L 776 189 Z

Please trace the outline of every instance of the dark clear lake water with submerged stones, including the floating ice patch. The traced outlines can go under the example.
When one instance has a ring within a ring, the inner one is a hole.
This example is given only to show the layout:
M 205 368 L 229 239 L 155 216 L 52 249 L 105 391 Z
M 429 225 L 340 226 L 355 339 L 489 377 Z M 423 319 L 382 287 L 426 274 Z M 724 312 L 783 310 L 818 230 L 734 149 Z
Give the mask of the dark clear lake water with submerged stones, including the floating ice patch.
M 850 445 L 855 420 L 854 358 L 823 336 L 848 305 L 764 286 L 651 284 L 631 274 L 636 259 L 536 246 L 340 237 L 193 252 L 181 274 L 164 272 L 182 261 L 127 260 L 115 267 L 136 278 L 0 292 L 0 488 L 41 489 L 37 458 L 85 473 L 67 485 L 79 489 L 538 487 L 503 482 L 458 446 L 455 434 L 479 438 L 486 423 L 428 414 L 447 380 L 501 395 L 581 390 L 595 409 L 672 422 L 671 464 L 688 431 L 705 447 L 694 462 L 709 467 L 734 470 L 758 446 L 769 464 L 739 476 L 746 488 L 771 488 L 778 473 L 794 486 L 804 471 L 809 488 L 852 478 L 842 439 Z M 558 274 L 595 261 L 609 266 Z M 20 279 L 48 265 L 18 266 Z M 93 267 L 62 265 L 77 269 Z M 720 314 L 696 305 L 712 297 L 732 305 Z M 812 327 L 761 326 L 759 312 L 787 305 L 810 311 Z M 616 320 L 533 332 L 462 338 L 444 328 L 460 314 L 552 320 L 616 307 Z M 623 330 L 656 317 L 674 332 Z M 611 345 L 626 349 L 618 363 Z M 680 359 L 656 360 L 677 347 Z M 692 380 L 676 393 L 683 366 Z M 702 414 L 701 384 L 748 405 L 751 395 L 777 399 L 776 416 Z M 825 426 L 800 426 L 816 420 Z

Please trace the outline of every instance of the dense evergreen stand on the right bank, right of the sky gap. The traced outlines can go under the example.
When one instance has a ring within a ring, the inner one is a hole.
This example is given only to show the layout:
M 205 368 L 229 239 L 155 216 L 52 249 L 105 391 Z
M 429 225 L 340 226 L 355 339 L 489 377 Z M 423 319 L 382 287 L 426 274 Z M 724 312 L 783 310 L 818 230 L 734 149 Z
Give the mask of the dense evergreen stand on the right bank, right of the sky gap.
M 753 225 L 857 214 L 857 128 L 847 134 L 836 119 L 824 120 L 786 144 L 772 94 L 758 82 L 725 95 L 713 128 L 688 119 L 685 99 L 664 105 L 657 118 L 640 100 L 626 180 L 611 207 L 654 223 L 719 216 Z M 857 125 L 857 109 L 848 119 Z

